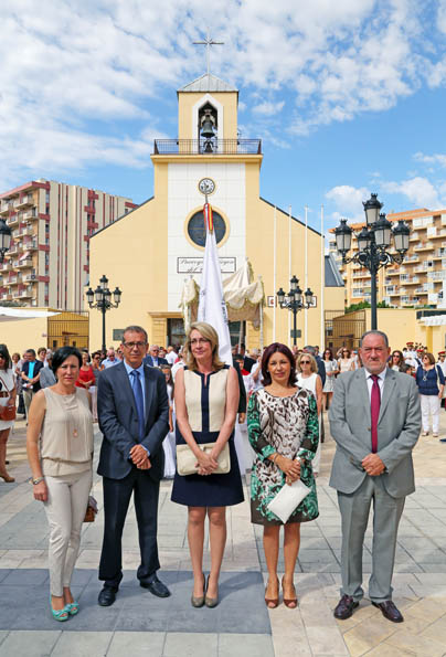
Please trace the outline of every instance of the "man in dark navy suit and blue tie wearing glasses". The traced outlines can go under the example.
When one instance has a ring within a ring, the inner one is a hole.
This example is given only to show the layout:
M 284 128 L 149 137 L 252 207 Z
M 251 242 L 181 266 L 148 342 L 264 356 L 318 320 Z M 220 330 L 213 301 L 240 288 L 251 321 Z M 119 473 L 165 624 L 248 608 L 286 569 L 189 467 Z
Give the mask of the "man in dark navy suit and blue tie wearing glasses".
M 100 373 L 97 410 L 104 434 L 97 471 L 104 477 L 104 542 L 98 603 L 115 602 L 123 579 L 121 537 L 134 492 L 141 564 L 140 585 L 168 597 L 157 576 L 157 519 L 159 483 L 164 468 L 162 441 L 169 432 L 169 400 L 162 372 L 144 364 L 147 333 L 127 327 L 123 338 L 124 361 Z

